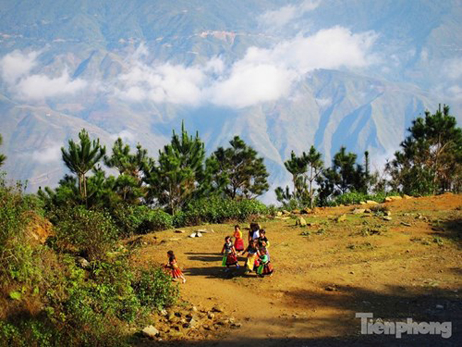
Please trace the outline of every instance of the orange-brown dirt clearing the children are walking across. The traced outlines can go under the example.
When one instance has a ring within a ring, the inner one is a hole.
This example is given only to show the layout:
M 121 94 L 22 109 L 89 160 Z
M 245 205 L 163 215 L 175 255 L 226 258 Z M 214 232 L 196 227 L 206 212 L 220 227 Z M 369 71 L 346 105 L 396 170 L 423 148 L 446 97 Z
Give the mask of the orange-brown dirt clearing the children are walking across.
M 174 250 L 188 279 L 181 284 L 183 299 L 205 309 L 219 304 L 227 316 L 242 323 L 240 329 L 211 336 L 210 343 L 375 344 L 376 338 L 396 343 L 394 337 L 360 336 L 355 312 L 372 312 L 390 321 L 451 320 L 453 336 L 459 337 L 447 341 L 437 336 L 436 342 L 460 342 L 462 197 L 414 198 L 387 205 L 392 212 L 388 221 L 350 214 L 350 206 L 305 216 L 312 224 L 306 228 L 294 227 L 294 219 L 262 222 L 271 242 L 273 277 L 245 276 L 243 269 L 232 277 L 222 272 L 219 252 L 224 237 L 232 235 L 232 225 L 200 227 L 214 231 L 200 238 L 188 237 L 199 228 L 146 235 L 147 245 L 137 251 L 134 262 L 164 263 L 166 251 Z M 348 213 L 347 220 L 335 222 L 342 213 Z M 434 341 L 419 338 L 400 343 Z

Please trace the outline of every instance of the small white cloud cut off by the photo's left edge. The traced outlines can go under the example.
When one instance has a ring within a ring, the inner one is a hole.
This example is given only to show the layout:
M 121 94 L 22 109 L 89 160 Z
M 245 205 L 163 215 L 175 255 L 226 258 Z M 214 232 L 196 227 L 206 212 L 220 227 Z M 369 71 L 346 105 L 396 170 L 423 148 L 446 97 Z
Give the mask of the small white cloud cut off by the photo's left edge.
M 20 50 L 14 50 L 4 55 L 0 59 L 1 78 L 11 84 L 23 75 L 27 75 L 36 65 L 36 58 L 39 53 L 35 50 L 30 53 L 21 53 Z

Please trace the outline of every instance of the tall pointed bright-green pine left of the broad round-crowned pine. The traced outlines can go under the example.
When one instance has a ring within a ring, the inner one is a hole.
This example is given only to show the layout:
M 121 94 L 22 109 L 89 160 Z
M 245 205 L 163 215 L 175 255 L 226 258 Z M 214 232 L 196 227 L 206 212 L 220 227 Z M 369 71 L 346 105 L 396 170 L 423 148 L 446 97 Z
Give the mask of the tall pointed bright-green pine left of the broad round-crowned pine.
M 204 144 L 196 132 L 189 136 L 181 124 L 181 135 L 173 130 L 171 143 L 159 151 L 159 163 L 145 178 L 149 198 L 171 213 L 176 213 L 191 198 L 198 197 L 200 184 L 205 180 Z

